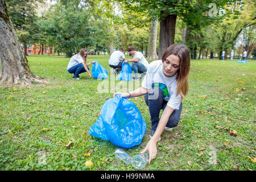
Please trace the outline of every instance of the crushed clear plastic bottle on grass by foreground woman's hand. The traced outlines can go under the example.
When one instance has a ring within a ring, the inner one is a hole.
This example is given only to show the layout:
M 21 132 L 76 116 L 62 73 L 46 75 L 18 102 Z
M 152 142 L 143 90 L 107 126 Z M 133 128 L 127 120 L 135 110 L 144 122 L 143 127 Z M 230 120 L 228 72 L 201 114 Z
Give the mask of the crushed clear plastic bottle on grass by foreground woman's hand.
M 146 153 L 133 156 L 131 158 L 125 151 L 118 148 L 114 152 L 115 157 L 122 160 L 125 164 L 131 164 L 134 168 L 143 169 L 148 163 L 148 155 Z

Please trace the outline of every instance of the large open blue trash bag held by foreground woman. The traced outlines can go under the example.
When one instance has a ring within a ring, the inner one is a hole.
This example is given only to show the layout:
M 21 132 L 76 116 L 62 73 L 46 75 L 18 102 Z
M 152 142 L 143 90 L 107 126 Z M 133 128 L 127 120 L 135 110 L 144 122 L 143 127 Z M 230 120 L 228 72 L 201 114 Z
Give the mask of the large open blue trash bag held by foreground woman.
M 93 137 L 110 140 L 123 148 L 140 144 L 145 132 L 146 122 L 138 107 L 120 94 L 104 103 L 100 116 L 89 129 Z

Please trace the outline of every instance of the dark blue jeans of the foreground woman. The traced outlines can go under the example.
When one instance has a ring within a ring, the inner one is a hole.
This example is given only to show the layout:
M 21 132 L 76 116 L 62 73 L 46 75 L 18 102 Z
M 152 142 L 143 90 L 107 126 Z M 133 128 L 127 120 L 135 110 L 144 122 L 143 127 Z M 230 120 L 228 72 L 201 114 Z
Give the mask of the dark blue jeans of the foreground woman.
M 158 87 L 155 87 L 154 89 L 150 89 L 150 91 L 144 96 L 144 99 L 150 111 L 151 122 L 158 123 L 160 110 L 161 109 L 164 110 L 168 102 L 164 100 L 163 91 Z M 175 109 L 172 112 L 172 114 L 170 115 L 170 118 L 168 119 L 166 127 L 172 128 L 179 124 L 181 110 L 182 110 L 182 103 L 180 103 L 179 109 Z

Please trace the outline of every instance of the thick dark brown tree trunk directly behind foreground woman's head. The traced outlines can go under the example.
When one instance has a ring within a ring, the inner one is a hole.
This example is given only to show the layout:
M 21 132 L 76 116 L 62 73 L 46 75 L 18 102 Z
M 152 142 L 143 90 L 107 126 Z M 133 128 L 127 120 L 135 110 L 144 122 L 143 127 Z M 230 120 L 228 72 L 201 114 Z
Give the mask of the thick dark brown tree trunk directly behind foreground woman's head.
M 166 16 L 160 22 L 158 59 L 162 59 L 164 51 L 174 44 L 177 19 L 177 15 L 169 15 L 168 11 L 161 11 L 161 14 L 166 14 Z

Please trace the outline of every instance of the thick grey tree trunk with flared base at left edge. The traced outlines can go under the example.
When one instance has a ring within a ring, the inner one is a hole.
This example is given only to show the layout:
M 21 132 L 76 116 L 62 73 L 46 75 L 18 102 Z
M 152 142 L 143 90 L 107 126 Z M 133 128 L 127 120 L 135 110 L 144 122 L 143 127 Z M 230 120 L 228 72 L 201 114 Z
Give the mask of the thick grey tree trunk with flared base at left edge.
M 32 81 L 45 83 L 30 70 L 4 0 L 0 0 L 0 40 L 1 83 L 22 85 L 31 84 Z

